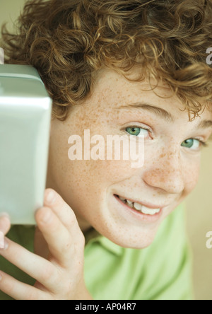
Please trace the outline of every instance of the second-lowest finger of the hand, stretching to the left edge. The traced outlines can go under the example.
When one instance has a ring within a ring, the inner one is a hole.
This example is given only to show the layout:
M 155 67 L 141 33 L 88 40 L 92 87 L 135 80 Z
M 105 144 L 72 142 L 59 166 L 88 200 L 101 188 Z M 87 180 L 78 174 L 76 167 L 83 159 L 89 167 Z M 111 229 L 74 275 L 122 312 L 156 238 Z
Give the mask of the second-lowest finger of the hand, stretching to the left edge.
M 39 281 L 48 291 L 54 292 L 57 289 L 60 274 L 54 264 L 29 252 L 8 238 L 5 238 L 4 242 L 5 248 L 0 250 L 1 256 Z

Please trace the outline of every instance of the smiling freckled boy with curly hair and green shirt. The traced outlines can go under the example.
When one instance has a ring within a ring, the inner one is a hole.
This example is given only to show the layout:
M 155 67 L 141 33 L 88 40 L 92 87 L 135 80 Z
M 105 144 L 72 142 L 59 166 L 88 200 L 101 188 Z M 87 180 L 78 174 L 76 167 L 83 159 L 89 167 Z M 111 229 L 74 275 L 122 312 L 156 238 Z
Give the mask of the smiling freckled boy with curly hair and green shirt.
M 211 13 L 201 0 L 34 0 L 19 35 L 4 30 L 7 62 L 35 66 L 54 108 L 37 228 L 0 220 L 2 299 L 192 298 L 182 202 L 212 132 Z M 143 167 L 70 161 L 85 130 L 143 139 Z

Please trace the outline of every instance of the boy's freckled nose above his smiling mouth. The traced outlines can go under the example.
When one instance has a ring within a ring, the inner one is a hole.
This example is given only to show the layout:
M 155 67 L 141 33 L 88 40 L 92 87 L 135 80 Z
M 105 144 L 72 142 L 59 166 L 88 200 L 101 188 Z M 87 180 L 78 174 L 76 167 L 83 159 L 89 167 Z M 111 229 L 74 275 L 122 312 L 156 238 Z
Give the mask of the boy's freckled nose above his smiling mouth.
M 144 170 L 143 181 L 169 194 L 182 193 L 185 184 L 180 152 L 166 151 L 155 156 Z

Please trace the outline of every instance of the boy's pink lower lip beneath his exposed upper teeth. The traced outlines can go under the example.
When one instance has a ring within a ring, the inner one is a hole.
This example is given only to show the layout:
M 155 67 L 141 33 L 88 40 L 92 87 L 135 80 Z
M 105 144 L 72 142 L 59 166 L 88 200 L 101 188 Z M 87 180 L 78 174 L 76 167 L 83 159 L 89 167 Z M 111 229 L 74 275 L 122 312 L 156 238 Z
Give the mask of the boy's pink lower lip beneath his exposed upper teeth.
M 148 214 L 143 214 L 141 213 L 141 211 L 136 211 L 135 209 L 132 209 L 131 207 L 127 206 L 126 204 L 124 204 L 121 199 L 119 199 L 117 194 L 114 194 L 114 198 L 117 199 L 117 202 L 119 202 L 120 205 L 122 205 L 122 209 L 124 209 L 124 216 L 128 216 L 129 219 L 136 219 L 136 221 L 141 221 L 141 222 L 145 222 L 145 223 L 155 223 L 158 220 L 160 220 L 161 216 L 163 215 L 163 208 L 160 207 L 149 207 L 151 209 L 159 209 L 160 211 L 158 214 L 154 214 L 154 215 L 148 215 Z M 123 197 L 124 198 L 124 197 Z M 134 202 L 133 200 L 129 199 L 129 201 Z M 141 202 L 139 202 L 139 204 L 141 204 Z M 146 206 L 144 204 L 142 204 L 143 206 Z M 149 205 L 148 205 L 149 206 Z M 148 207 L 146 206 L 146 207 Z

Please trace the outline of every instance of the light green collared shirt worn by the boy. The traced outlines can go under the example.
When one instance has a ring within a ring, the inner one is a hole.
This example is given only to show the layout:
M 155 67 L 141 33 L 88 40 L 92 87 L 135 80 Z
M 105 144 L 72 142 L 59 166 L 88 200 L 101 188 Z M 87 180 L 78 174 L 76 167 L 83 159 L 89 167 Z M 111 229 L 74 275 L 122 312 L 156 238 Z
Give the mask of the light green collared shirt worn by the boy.
M 33 251 L 34 228 L 13 226 L 8 238 Z M 33 285 L 35 280 L 0 257 L 0 269 Z M 85 280 L 95 300 L 191 300 L 192 256 L 184 206 L 163 221 L 143 250 L 115 245 L 96 231 L 86 235 Z M 11 299 L 0 291 L 0 300 Z

